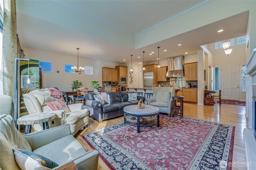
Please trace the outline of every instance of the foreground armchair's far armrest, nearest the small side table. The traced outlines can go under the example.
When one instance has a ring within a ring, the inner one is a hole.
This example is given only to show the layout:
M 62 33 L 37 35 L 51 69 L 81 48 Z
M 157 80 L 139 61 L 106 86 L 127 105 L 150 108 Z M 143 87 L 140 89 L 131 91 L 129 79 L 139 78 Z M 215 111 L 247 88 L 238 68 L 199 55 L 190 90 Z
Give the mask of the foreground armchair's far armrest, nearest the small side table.
M 22 136 L 28 141 L 32 150 L 36 150 L 70 134 L 70 125 L 67 124 L 30 134 L 22 134 Z

